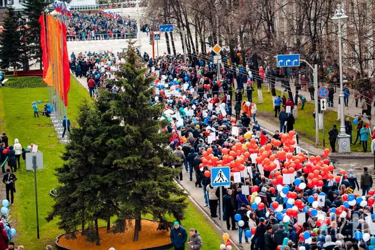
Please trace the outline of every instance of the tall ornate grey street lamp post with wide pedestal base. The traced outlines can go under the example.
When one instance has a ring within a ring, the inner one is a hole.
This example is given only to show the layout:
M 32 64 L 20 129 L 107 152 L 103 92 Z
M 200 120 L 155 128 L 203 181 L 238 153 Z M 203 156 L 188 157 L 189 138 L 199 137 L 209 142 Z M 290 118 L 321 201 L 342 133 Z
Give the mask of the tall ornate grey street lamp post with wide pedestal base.
M 338 134 L 338 152 L 346 153 L 350 152 L 350 136 L 345 133 L 345 119 L 344 119 L 344 91 L 342 83 L 342 32 L 341 24 L 344 24 L 348 16 L 345 15 L 344 10 L 341 8 L 341 4 L 337 5 L 335 10 L 335 15 L 331 20 L 338 24 L 338 60 L 339 60 L 339 69 L 340 69 L 340 92 L 339 92 L 339 101 L 340 101 L 340 133 Z

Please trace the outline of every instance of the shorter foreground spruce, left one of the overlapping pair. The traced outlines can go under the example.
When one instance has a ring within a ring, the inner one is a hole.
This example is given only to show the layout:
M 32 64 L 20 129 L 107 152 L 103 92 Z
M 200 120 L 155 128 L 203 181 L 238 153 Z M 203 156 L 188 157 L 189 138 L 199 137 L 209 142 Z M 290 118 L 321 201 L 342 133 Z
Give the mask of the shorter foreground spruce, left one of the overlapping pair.
M 62 185 L 57 187 L 56 203 L 46 219 L 59 216 L 60 229 L 71 232 L 82 228 L 87 240 L 99 245 L 98 219 L 108 220 L 118 206 L 111 195 L 115 188 L 111 164 L 105 164 L 104 159 L 106 143 L 115 137 L 112 128 L 118 127 L 119 121 L 107 119 L 96 102 L 86 100 L 79 107 L 77 123 L 62 156 L 66 163 L 56 170 Z M 88 228 L 84 229 L 86 224 Z

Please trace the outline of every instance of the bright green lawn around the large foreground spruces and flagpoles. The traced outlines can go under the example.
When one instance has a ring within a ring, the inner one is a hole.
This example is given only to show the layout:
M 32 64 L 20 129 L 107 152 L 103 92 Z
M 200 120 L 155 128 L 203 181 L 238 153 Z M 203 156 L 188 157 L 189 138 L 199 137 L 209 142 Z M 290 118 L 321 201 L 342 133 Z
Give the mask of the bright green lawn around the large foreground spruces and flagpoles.
M 77 105 L 88 96 L 87 90 L 72 77 L 67 108 L 72 126 L 76 120 Z M 54 246 L 56 236 L 64 233 L 58 229 L 57 219 L 51 222 L 44 219 L 51 211 L 53 199 L 49 196 L 49 191 L 58 185 L 54 176 L 55 168 L 63 163 L 59 155 L 64 150 L 64 146 L 56 138 L 51 120 L 41 115 L 40 118 L 34 118 L 31 103 L 39 100 L 45 103 L 47 98 L 47 88 L 0 88 L 0 130 L 3 129 L 3 125 L 9 137 L 9 144 L 13 144 L 12 142 L 17 138 L 23 147 L 35 143 L 38 145 L 38 150 L 43 152 L 44 169 L 37 172 L 40 239 L 37 239 L 34 173 L 26 172 L 24 162 L 21 163 L 21 170 L 16 172 L 18 180 L 15 206 L 9 207 L 13 226 L 17 231 L 13 238 L 16 246 L 23 245 L 28 250 L 40 250 L 46 245 Z M 42 109 L 42 105 L 38 107 L 39 110 Z M 105 221 L 100 222 L 101 225 L 106 225 Z M 203 250 L 218 249 L 220 246 L 220 233 L 191 203 L 188 205 L 186 219 L 182 224 L 187 230 L 193 227 L 200 232 L 204 243 Z

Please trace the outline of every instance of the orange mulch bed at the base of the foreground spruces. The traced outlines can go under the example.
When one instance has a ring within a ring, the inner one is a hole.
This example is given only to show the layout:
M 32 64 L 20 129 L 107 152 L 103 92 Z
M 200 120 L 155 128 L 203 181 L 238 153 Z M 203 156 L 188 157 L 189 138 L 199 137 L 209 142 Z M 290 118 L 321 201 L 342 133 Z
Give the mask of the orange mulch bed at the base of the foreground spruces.
M 107 233 L 107 227 L 99 228 L 100 246 L 96 246 L 95 242 L 87 242 L 86 237 L 80 233 L 77 234 L 77 238 L 74 240 L 68 240 L 62 236 L 57 243 L 62 247 L 74 250 L 103 250 L 110 248 L 115 250 L 139 250 L 171 243 L 168 231 L 156 230 L 157 222 L 143 219 L 141 223 L 142 231 L 139 232 L 138 242 L 133 242 L 135 224 L 135 220 L 133 220 L 132 227 L 130 228 L 129 226 L 125 233 Z

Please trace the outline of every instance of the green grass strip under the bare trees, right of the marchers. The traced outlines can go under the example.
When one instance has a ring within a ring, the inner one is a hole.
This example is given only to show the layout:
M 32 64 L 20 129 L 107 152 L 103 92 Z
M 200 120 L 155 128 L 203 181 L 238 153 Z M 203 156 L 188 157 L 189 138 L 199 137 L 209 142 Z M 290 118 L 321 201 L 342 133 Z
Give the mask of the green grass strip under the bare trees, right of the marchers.
M 253 92 L 253 102 L 257 103 L 257 116 L 261 119 L 264 119 L 278 127 L 280 127 L 279 119 L 274 117 L 275 112 L 273 111 L 273 102 L 272 102 L 272 95 L 267 93 L 267 89 L 263 88 L 263 104 L 258 104 L 258 91 Z M 280 91 L 276 91 L 276 95 L 282 96 Z M 287 96 L 287 94 L 286 94 Z M 247 100 L 246 96 L 243 96 L 242 100 Z M 301 106 L 298 106 L 298 119 L 296 119 L 296 124 L 294 128 L 300 135 L 300 138 L 308 143 L 315 144 L 315 128 L 314 128 L 314 117 L 312 113 L 314 111 L 315 105 L 312 103 L 305 103 L 303 110 L 300 110 Z M 345 117 L 346 118 L 346 117 Z M 353 120 L 353 118 L 350 118 Z M 340 127 L 340 122 L 337 120 L 337 112 L 332 110 L 324 111 L 324 127 L 325 127 L 325 141 L 326 141 L 326 148 L 331 148 L 330 143 L 328 140 L 328 131 L 332 129 L 333 125 L 336 124 L 338 126 L 338 130 Z M 355 137 L 357 135 L 357 131 L 355 130 L 355 125 L 353 125 L 353 143 L 355 141 Z M 323 148 L 323 131 L 319 131 L 319 142 L 321 143 L 318 147 Z M 371 144 L 371 137 L 369 137 L 369 143 Z M 362 145 L 351 145 L 352 151 L 362 151 Z M 368 148 L 369 150 L 369 148 Z

